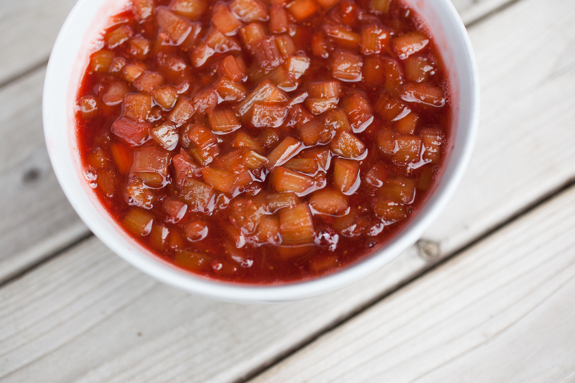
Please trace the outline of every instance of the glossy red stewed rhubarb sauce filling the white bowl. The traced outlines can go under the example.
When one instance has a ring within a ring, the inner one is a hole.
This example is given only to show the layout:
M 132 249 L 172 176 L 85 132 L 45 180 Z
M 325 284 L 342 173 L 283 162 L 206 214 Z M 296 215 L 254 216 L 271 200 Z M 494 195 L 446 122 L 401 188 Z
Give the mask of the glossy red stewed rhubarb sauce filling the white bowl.
M 442 61 L 398 0 L 133 0 L 77 98 L 86 180 L 194 274 L 337 271 L 418 211 L 441 170 Z

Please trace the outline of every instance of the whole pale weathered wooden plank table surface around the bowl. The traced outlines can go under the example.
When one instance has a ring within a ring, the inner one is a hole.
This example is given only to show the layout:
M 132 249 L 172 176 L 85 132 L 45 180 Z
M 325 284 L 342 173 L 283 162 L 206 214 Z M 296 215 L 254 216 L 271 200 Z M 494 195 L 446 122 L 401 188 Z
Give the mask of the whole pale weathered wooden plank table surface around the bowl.
M 482 107 L 446 211 L 353 286 L 244 306 L 162 285 L 90 234 L 40 110 L 75 0 L 0 0 L 0 381 L 575 381 L 575 2 L 453 1 Z

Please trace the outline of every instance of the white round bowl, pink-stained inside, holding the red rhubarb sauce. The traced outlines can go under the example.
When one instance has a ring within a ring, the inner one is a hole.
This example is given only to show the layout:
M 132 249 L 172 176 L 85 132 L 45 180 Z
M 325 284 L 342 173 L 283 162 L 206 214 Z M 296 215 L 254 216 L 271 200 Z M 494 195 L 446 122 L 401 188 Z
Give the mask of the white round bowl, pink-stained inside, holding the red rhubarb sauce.
M 79 0 L 55 42 L 44 83 L 44 135 L 62 189 L 92 232 L 123 259 L 146 274 L 180 289 L 234 302 L 283 302 L 308 298 L 349 285 L 389 263 L 415 243 L 444 209 L 468 164 L 479 110 L 478 72 L 471 43 L 449 0 L 407 0 L 429 27 L 442 53 L 452 85 L 453 118 L 450 155 L 442 177 L 418 213 L 387 246 L 340 272 L 287 285 L 238 285 L 207 280 L 185 272 L 133 241 L 103 209 L 88 186 L 79 160 L 75 132 L 75 98 L 94 42 L 109 16 L 127 0 Z

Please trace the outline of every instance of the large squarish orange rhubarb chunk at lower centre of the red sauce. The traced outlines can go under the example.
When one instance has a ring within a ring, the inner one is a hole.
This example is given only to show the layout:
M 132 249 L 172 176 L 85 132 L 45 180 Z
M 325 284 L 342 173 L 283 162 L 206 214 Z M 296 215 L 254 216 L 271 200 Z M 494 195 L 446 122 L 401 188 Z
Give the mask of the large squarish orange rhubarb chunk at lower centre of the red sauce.
M 312 243 L 316 236 L 314 218 L 311 216 L 309 206 L 298 204 L 290 209 L 279 211 L 279 231 L 281 243 L 284 245 L 303 245 Z

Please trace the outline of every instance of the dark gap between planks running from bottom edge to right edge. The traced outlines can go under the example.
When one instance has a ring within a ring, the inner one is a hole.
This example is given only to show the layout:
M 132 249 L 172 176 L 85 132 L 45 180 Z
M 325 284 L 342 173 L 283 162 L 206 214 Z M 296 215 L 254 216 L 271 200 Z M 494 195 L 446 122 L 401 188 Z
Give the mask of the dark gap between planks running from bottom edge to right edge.
M 518 1 L 520 1 L 520 0 L 518 0 Z M 500 224 L 498 224 L 498 225 L 494 226 L 493 228 L 485 231 L 485 233 L 483 233 L 479 237 L 476 237 L 476 239 L 473 239 L 472 241 L 467 243 L 465 246 L 458 248 L 454 252 L 448 253 L 448 255 L 446 255 L 446 257 L 441 259 L 440 261 L 437 261 L 435 263 L 431 263 L 429 265 L 429 267 L 422 269 L 420 273 L 414 274 L 413 276 L 411 276 L 411 278 L 406 279 L 403 282 L 401 282 L 400 284 L 396 285 L 396 287 L 394 287 L 394 289 L 389 289 L 388 291 L 385 291 L 384 293 L 382 293 L 380 295 L 376 295 L 372 300 L 366 302 L 366 304 L 363 304 L 362 306 L 359 306 L 357 308 L 357 310 L 349 313 L 349 315 L 342 317 L 339 321 L 337 321 L 335 323 L 331 323 L 331 326 L 327 326 L 325 328 L 322 328 L 322 330 L 320 330 L 316 334 L 311 334 L 309 339 L 306 339 L 305 341 L 303 341 L 302 343 L 300 343 L 298 345 L 294 345 L 293 349 L 289 350 L 288 352 L 285 352 L 284 354 L 281 354 L 280 356 L 278 356 L 277 359 L 274 359 L 270 364 L 263 366 L 260 369 L 257 369 L 257 371 L 254 371 L 250 375 L 247 375 L 246 378 L 241 378 L 241 379 L 235 380 L 233 383 L 247 383 L 247 382 L 255 379 L 258 375 L 261 375 L 265 371 L 272 369 L 272 367 L 279 365 L 279 363 L 283 362 L 283 360 L 287 360 L 288 358 L 290 358 L 290 356 L 297 354 L 301 349 L 304 349 L 308 345 L 311 345 L 311 343 L 314 343 L 315 341 L 317 341 L 321 336 L 324 336 L 325 334 L 327 334 L 331 330 L 334 330 L 335 328 L 340 327 L 340 326 L 344 325 L 345 323 L 348 323 L 349 321 L 353 320 L 355 317 L 361 315 L 361 313 L 364 313 L 364 312 L 368 311 L 370 308 L 372 308 L 373 306 L 375 306 L 376 304 L 379 304 L 379 302 L 381 302 L 382 300 L 387 298 L 389 295 L 392 295 L 392 294 L 396 293 L 398 290 L 403 289 L 404 287 L 407 287 L 407 285 L 410 285 L 414 280 L 419 279 L 424 274 L 429 274 L 430 272 L 433 272 L 434 269 L 437 269 L 438 267 L 442 266 L 444 263 L 447 263 L 448 261 L 450 261 L 455 256 L 467 251 L 468 249 L 472 248 L 473 246 L 476 246 L 477 243 L 487 239 L 488 237 L 491 237 L 491 235 L 494 235 L 496 232 L 498 232 L 504 226 L 507 226 L 507 225 L 517 221 L 517 220 L 520 220 L 525 215 L 528 215 L 529 213 L 533 212 L 535 209 L 541 207 L 542 205 L 546 204 L 547 202 L 550 202 L 550 200 L 552 200 L 553 198 L 560 196 L 561 194 L 563 194 L 563 192 L 567 192 L 567 190 L 569 190 L 572 187 L 575 187 L 575 177 L 568 180 L 567 182 L 565 182 L 563 185 L 561 185 L 561 187 L 557 187 L 556 189 L 552 190 L 550 193 L 546 194 L 545 196 L 542 196 L 538 200 L 535 200 L 533 203 L 526 205 L 526 207 L 524 209 L 522 209 L 521 211 L 518 211 L 515 215 L 512 215 L 511 217 L 509 217 L 509 219 L 507 219 L 503 222 L 500 222 Z M 416 246 L 417 246 L 417 243 L 416 243 Z

